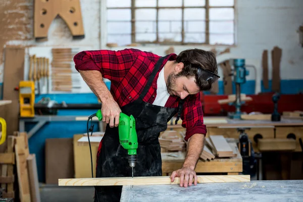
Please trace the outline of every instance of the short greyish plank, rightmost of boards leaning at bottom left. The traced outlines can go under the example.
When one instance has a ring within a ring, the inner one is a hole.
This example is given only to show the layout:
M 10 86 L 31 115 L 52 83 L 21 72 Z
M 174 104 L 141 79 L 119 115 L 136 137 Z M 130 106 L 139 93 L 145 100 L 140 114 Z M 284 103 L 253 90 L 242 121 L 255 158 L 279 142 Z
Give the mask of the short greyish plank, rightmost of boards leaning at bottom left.
M 28 169 L 28 176 L 29 176 L 31 200 L 33 202 L 39 202 L 39 201 L 41 201 L 41 198 L 40 198 L 37 163 L 36 163 L 35 154 L 30 154 L 28 156 L 27 169 Z

